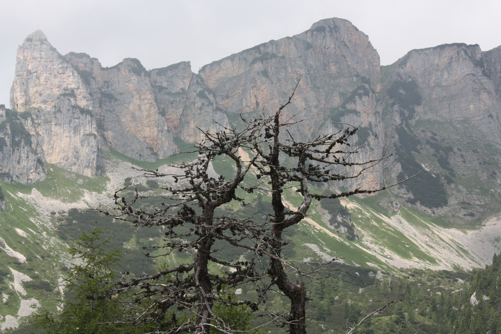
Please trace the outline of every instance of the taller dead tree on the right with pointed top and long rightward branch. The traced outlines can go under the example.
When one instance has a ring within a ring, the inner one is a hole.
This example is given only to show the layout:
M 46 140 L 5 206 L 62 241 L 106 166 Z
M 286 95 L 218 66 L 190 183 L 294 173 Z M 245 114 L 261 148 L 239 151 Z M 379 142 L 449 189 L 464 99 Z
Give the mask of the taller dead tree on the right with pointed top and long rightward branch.
M 310 141 L 296 140 L 288 128 L 301 123 L 302 120 L 297 120 L 297 115 L 286 119 L 283 113 L 284 108 L 292 102 L 293 97 L 294 92 L 287 103 L 281 105 L 272 116 L 265 117 L 263 115 L 254 121 L 246 121 L 246 124 L 250 128 L 260 128 L 260 132 L 256 133 L 257 138 L 253 147 L 253 151 L 258 158 L 255 159 L 253 165 L 259 170 L 257 177 L 259 179 L 266 178 L 265 182 L 269 186 L 267 190 L 271 193 L 274 210 L 273 214 L 270 214 L 272 217 L 272 231 L 268 239 L 266 239 L 266 247 L 270 255 L 268 273 L 272 278 L 272 282 L 277 284 L 278 288 L 291 300 L 290 314 L 282 319 L 283 323 L 289 325 L 291 334 L 304 334 L 306 333 L 305 303 L 308 300 L 306 288 L 304 283 L 291 281 L 287 269 L 309 277 L 312 277 L 311 274 L 314 271 L 318 272 L 318 270 L 305 272 L 298 266 L 300 261 L 284 259 L 281 251 L 283 246 L 287 244 L 287 240 L 284 240 L 282 233 L 307 216 L 307 211 L 313 200 L 370 194 L 387 189 L 388 187 L 378 189 L 356 188 L 347 192 L 327 194 L 313 194 L 310 192 L 311 185 L 315 183 L 356 179 L 364 171 L 389 156 L 358 163 L 350 160 L 350 156 L 359 153 L 361 147 L 367 144 L 360 147 L 350 145 L 352 136 L 358 130 L 358 127 L 355 126 L 348 126 L 338 133 L 321 135 Z M 284 160 L 287 162 L 281 162 Z M 351 170 L 349 171 L 347 168 Z M 292 186 L 296 187 L 296 191 L 303 197 L 301 205 L 295 209 L 288 208 L 284 198 L 284 190 Z

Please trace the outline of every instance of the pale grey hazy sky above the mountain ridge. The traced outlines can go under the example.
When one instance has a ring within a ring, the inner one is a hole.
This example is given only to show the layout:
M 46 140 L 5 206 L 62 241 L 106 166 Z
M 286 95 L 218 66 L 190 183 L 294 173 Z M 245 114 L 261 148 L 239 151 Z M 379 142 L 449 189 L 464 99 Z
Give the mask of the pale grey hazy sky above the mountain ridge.
M 0 0 L 0 104 L 9 105 L 16 51 L 41 29 L 61 54 L 85 52 L 146 69 L 191 61 L 193 72 L 232 53 L 293 36 L 321 19 L 351 21 L 388 65 L 444 43 L 501 45 L 500 1 L 20 1 Z

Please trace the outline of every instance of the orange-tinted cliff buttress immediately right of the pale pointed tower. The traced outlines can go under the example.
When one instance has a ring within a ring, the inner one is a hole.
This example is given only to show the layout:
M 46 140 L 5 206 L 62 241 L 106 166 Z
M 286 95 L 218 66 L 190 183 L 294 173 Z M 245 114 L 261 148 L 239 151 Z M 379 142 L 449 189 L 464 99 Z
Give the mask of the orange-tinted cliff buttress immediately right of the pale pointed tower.
M 70 53 L 93 96 L 99 128 L 109 146 L 133 159 L 155 161 L 175 150 L 172 134 L 159 114 L 149 73 L 137 59 L 102 68 L 97 59 Z

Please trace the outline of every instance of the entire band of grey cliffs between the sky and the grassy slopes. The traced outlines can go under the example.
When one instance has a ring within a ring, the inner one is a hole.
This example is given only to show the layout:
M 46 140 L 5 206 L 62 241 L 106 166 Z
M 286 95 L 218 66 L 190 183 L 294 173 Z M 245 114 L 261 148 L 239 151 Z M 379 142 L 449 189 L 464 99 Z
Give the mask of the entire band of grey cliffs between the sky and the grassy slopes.
M 300 78 L 283 114 L 305 119 L 291 129 L 297 139 L 360 125 L 350 143 L 358 152 L 351 162 L 395 153 L 338 186 L 374 189 L 427 166 L 393 191 L 431 212 L 473 202 L 455 185 L 460 177 L 501 180 L 501 167 L 495 170 L 490 161 L 497 157 L 481 156 L 478 146 L 492 145 L 501 162 L 501 47 L 481 52 L 478 45 L 458 43 L 412 50 L 381 68 L 369 38 L 336 18 L 212 62 L 198 74 L 189 62 L 147 71 L 130 58 L 103 68 L 87 54 L 60 55 L 37 31 L 18 50 L 11 91 L 18 113 L 5 111 L 13 121 L 0 129 L 6 142 L 0 145 L 2 177 L 36 182 L 45 175 L 43 161 L 94 175 L 99 152 L 108 147 L 137 160 L 165 158 L 176 150 L 175 138 L 194 143 L 201 131 L 239 126 L 240 113 L 273 113 Z M 12 124 L 23 125 L 31 142 L 13 135 Z M 461 150 L 472 143 L 478 149 Z

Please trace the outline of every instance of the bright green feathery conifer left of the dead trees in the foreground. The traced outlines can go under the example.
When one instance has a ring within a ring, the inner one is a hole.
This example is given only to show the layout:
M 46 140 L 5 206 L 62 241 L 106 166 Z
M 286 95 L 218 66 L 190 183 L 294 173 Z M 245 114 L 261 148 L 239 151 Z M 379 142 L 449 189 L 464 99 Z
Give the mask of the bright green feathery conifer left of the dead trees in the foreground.
M 122 252 L 109 250 L 111 238 L 103 239 L 104 228 L 92 229 L 91 234 L 82 232 L 69 253 L 78 264 L 67 272 L 65 283 L 67 294 L 74 294 L 65 300 L 63 311 L 53 316 L 49 312 L 35 317 L 35 327 L 46 334 L 107 334 L 136 333 L 144 328 L 130 324 L 102 324 L 123 316 L 119 301 L 124 296 L 102 297 L 108 286 L 102 282 L 116 280 L 118 271 L 113 268 L 120 262 Z M 153 329 L 153 328 L 152 328 Z

